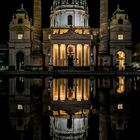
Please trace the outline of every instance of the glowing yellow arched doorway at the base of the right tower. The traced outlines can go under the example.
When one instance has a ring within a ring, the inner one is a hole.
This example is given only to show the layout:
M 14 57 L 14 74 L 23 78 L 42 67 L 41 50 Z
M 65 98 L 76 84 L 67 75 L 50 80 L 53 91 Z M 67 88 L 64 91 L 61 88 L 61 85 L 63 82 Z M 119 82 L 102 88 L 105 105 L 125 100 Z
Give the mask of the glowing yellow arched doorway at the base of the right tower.
M 118 70 L 125 70 L 125 53 L 123 51 L 117 52 Z

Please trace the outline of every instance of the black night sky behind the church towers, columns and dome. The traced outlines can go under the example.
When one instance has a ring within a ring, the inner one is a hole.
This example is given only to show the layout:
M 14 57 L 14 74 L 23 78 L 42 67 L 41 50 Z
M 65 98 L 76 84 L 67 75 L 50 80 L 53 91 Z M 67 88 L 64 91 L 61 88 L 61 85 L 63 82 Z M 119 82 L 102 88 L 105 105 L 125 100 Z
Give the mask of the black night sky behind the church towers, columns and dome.
M 20 4 L 24 4 L 24 8 L 32 18 L 32 1 L 33 0 L 4 0 L 0 4 L 0 40 L 8 39 L 8 26 L 13 13 Z M 43 27 L 49 27 L 49 10 L 53 0 L 42 0 L 43 5 Z M 89 25 L 91 27 L 99 27 L 99 0 L 87 0 L 89 5 Z M 138 0 L 109 0 L 109 17 L 116 10 L 117 4 L 124 9 L 129 15 L 132 22 L 132 35 L 134 41 L 140 41 L 140 8 Z

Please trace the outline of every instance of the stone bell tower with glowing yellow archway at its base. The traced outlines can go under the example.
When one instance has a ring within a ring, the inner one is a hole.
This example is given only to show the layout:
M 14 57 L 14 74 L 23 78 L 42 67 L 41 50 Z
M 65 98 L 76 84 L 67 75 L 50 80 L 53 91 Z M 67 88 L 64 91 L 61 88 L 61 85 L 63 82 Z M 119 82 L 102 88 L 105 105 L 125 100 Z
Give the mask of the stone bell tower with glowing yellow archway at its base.
M 113 67 L 125 70 L 132 63 L 132 24 L 125 10 L 119 5 L 110 20 L 110 53 Z

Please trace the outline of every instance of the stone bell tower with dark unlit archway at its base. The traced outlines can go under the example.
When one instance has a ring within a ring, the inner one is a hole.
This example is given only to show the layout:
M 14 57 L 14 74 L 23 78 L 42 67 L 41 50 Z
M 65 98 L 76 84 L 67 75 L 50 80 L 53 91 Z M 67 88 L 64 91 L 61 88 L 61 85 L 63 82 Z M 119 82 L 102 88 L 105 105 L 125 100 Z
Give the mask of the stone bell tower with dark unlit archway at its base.
M 31 65 L 31 21 L 23 4 L 9 24 L 9 67 L 22 70 Z

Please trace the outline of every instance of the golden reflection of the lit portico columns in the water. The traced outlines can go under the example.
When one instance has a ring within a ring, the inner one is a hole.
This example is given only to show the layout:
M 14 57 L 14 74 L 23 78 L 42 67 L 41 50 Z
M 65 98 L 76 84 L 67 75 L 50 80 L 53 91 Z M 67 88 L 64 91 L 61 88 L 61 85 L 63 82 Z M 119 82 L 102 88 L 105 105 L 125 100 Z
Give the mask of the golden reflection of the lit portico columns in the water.
M 67 79 L 53 79 L 52 99 L 53 101 L 77 100 L 87 101 L 90 93 L 89 79 L 74 79 L 72 85 L 68 87 Z

